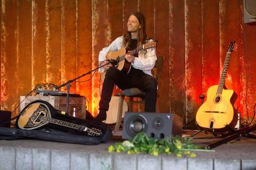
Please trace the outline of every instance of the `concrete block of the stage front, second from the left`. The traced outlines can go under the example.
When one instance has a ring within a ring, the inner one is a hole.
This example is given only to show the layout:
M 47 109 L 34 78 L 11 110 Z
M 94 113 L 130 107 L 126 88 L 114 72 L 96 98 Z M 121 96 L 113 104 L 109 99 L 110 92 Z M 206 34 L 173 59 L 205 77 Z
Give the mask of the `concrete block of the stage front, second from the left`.
M 16 170 L 32 169 L 32 149 L 16 148 Z

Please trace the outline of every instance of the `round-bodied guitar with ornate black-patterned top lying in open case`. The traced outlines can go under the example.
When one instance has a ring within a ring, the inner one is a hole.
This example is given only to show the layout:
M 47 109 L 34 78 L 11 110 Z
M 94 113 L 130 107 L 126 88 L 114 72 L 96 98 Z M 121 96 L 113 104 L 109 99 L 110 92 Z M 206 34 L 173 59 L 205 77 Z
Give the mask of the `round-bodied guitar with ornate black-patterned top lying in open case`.
M 51 123 L 63 127 L 76 129 L 78 131 L 85 132 L 90 136 L 100 136 L 102 134 L 101 130 L 97 128 L 88 128 L 85 126 L 52 118 L 49 107 L 45 103 L 41 102 L 31 103 L 26 106 L 22 113 L 20 113 L 17 121 L 18 127 L 25 130 L 36 130 L 41 128 L 42 126 Z

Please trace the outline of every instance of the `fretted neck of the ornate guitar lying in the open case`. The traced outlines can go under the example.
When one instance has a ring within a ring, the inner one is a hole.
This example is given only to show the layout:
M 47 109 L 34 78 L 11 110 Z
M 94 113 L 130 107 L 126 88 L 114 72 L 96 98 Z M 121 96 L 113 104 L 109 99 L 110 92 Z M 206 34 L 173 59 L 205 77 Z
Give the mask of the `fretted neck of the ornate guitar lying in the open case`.
M 68 128 L 79 130 L 79 131 L 87 131 L 87 130 L 89 130 L 89 128 L 87 128 L 87 127 L 76 125 L 76 124 L 72 124 L 72 123 L 65 122 L 65 121 L 58 120 L 58 119 L 51 118 L 51 117 L 40 116 L 40 119 L 44 120 L 46 122 L 52 123 L 52 124 L 56 124 L 56 125 L 60 125 L 60 126 L 65 126 L 65 127 L 68 127 Z

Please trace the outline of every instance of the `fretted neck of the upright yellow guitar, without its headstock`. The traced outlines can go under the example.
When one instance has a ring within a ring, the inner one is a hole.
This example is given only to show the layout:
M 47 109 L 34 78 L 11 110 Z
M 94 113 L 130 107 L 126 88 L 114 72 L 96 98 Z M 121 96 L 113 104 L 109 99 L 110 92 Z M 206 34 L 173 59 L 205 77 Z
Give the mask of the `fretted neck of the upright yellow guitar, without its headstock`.
M 227 52 L 227 55 L 226 55 L 226 58 L 225 58 L 225 61 L 224 61 L 224 66 L 223 66 L 221 78 L 220 78 L 220 82 L 219 82 L 216 94 L 222 94 L 223 87 L 224 87 L 224 84 L 225 84 L 226 75 L 227 75 L 227 69 L 228 69 L 230 56 L 231 56 L 231 52 Z

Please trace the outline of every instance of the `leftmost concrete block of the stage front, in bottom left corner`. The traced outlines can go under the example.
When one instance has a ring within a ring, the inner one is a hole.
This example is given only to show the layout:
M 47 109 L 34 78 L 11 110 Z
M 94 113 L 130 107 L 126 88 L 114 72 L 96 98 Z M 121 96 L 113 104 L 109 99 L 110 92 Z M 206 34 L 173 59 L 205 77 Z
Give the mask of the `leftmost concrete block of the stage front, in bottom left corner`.
M 15 148 L 0 147 L 0 169 L 15 169 Z

